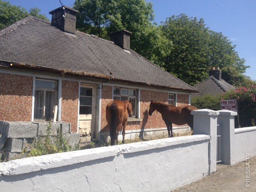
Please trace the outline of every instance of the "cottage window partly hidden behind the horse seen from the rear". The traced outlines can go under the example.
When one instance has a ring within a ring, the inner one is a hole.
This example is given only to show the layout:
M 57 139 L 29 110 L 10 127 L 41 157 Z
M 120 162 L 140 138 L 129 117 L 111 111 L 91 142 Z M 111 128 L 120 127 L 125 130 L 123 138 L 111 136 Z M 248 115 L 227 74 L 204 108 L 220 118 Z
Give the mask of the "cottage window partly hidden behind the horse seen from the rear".
M 130 101 L 132 103 L 132 114 L 134 117 L 137 116 L 137 90 L 136 89 L 124 89 L 114 87 L 113 99 L 120 101 Z

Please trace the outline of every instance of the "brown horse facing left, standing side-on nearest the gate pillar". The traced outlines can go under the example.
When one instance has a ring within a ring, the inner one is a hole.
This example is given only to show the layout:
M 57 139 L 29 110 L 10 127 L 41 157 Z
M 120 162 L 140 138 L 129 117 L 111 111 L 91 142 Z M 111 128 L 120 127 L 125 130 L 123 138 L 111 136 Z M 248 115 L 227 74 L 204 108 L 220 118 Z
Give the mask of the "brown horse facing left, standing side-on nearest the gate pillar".
M 148 114 L 151 116 L 155 110 L 162 114 L 163 121 L 165 121 L 167 126 L 169 137 L 173 137 L 173 123 L 176 125 L 183 125 L 187 123 L 193 130 L 193 116 L 190 113 L 197 110 L 195 106 L 187 105 L 183 107 L 176 107 L 168 103 L 151 100 Z

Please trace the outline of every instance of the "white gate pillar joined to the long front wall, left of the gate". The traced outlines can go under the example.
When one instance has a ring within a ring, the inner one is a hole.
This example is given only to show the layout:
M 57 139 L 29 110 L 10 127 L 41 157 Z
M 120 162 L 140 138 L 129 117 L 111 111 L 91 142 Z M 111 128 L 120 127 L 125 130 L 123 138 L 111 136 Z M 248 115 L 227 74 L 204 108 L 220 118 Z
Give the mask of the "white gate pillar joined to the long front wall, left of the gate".
M 209 174 L 217 168 L 217 117 L 219 112 L 210 109 L 192 111 L 194 116 L 193 134 L 210 135 L 209 144 Z

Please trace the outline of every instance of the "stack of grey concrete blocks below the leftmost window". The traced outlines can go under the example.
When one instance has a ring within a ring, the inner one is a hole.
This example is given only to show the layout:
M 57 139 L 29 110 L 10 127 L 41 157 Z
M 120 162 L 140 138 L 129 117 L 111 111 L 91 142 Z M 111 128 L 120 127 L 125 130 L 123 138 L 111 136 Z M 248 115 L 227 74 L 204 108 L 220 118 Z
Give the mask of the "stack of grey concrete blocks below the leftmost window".
M 70 123 L 47 123 L 47 122 L 7 122 L 1 121 L 0 128 L 2 135 L 0 137 L 0 151 L 4 150 L 5 158 L 11 160 L 19 157 L 20 153 L 26 147 L 30 150 L 31 144 L 34 144 L 38 138 L 48 135 L 54 138 L 60 133 L 67 140 L 69 145 L 76 147 L 79 143 L 79 133 L 71 133 Z

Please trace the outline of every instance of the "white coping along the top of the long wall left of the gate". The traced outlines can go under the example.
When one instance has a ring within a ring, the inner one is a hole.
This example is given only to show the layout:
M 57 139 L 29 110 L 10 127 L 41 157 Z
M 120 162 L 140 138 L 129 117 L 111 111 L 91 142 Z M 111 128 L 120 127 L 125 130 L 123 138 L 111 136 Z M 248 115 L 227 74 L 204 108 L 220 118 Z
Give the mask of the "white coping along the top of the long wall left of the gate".
M 36 172 L 39 170 L 74 165 L 77 163 L 94 161 L 96 159 L 114 157 L 116 155 L 147 151 L 168 146 L 178 147 L 178 145 L 184 143 L 209 141 L 209 135 L 191 135 L 16 159 L 9 162 L 0 163 L 0 176 Z

